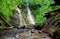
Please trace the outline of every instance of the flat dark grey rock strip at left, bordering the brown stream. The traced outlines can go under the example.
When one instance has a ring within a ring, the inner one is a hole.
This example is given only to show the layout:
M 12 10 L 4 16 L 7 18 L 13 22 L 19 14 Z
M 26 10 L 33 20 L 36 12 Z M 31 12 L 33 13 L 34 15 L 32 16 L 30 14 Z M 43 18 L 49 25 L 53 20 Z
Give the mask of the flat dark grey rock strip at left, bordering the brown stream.
M 17 34 L 17 33 L 22 33 L 24 32 L 23 29 L 10 29 L 10 30 L 4 30 L 4 31 L 0 31 L 0 35 L 12 35 L 12 34 Z

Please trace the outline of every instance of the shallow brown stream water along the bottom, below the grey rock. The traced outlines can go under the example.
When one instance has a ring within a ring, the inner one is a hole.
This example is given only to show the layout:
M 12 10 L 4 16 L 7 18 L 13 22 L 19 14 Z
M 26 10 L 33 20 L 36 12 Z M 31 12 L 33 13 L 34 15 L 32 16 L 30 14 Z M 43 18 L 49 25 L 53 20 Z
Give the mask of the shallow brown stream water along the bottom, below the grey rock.
M 31 33 L 31 30 L 25 29 L 24 32 L 16 33 L 16 34 L 6 34 L 0 36 L 0 39 L 51 39 L 45 33 L 38 33 L 36 30 L 34 33 Z

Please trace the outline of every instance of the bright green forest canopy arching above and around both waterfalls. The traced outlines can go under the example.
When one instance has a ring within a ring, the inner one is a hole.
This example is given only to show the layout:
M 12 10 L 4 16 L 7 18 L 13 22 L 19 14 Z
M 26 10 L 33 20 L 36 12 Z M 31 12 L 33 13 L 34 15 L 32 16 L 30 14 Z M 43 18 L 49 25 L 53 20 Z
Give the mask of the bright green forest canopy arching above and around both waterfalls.
M 46 20 L 45 13 L 60 9 L 59 5 L 50 6 L 51 4 L 55 4 L 54 0 L 0 0 L 0 14 L 9 21 L 13 10 L 24 5 L 31 9 L 35 22 L 43 23 Z

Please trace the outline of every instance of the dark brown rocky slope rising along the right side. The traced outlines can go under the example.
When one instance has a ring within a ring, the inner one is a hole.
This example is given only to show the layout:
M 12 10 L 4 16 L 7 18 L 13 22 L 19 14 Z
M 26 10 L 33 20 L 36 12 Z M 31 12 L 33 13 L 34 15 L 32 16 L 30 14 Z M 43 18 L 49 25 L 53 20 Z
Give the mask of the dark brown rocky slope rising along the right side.
M 50 18 L 44 22 L 44 27 L 42 29 L 43 32 L 51 35 L 51 36 L 60 36 L 58 34 L 60 31 L 60 10 L 52 11 Z M 55 33 L 55 31 L 58 31 Z

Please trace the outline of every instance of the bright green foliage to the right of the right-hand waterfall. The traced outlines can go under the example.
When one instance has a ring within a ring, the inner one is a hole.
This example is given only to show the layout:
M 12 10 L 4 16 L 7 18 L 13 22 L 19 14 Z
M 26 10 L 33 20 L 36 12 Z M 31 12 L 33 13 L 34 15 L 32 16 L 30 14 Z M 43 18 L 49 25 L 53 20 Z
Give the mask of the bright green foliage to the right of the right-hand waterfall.
M 40 4 L 41 7 L 35 9 L 32 9 L 32 13 L 35 17 L 35 21 L 37 23 L 43 23 L 46 20 L 46 17 L 44 17 L 45 13 L 50 12 L 50 11 L 54 11 L 57 9 L 60 9 L 60 6 L 56 5 L 56 6 L 50 6 L 51 4 L 54 4 L 54 0 L 33 0 L 31 2 L 29 2 L 30 5 L 36 5 L 36 4 Z M 30 6 L 29 5 L 29 6 Z M 33 8 L 33 7 L 31 7 Z

